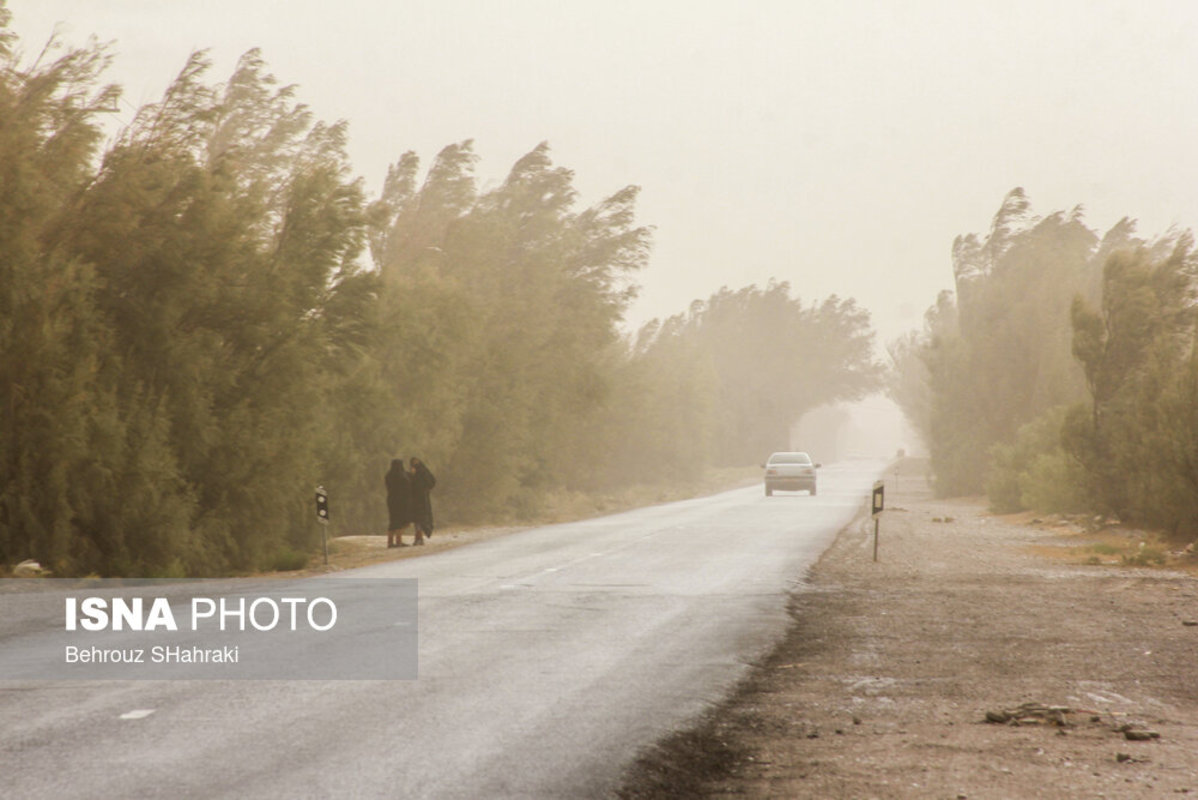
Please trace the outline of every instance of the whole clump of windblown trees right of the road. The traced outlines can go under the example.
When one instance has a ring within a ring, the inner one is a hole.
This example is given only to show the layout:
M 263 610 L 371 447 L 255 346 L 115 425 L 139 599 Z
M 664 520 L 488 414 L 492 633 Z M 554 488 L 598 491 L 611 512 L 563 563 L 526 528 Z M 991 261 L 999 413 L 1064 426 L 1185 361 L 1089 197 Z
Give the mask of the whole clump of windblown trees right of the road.
M 954 268 L 956 297 L 891 346 L 937 489 L 1198 533 L 1190 234 L 1146 242 L 1124 219 L 1099 240 L 1077 212 L 1033 218 L 1015 190 L 985 240 L 957 240 Z

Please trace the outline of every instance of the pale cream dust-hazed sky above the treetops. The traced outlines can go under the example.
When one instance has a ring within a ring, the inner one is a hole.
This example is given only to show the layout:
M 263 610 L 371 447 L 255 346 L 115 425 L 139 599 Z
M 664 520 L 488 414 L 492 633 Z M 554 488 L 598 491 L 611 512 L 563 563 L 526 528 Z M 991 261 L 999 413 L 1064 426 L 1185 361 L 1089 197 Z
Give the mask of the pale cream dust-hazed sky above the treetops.
M 883 340 L 951 286 L 958 234 L 1016 186 L 1156 235 L 1198 226 L 1198 2 L 1178 0 L 8 0 L 32 57 L 114 41 L 123 117 L 194 49 L 262 49 L 319 119 L 388 163 L 474 139 L 484 186 L 547 140 L 591 204 L 642 187 L 657 228 L 630 321 L 789 280 Z

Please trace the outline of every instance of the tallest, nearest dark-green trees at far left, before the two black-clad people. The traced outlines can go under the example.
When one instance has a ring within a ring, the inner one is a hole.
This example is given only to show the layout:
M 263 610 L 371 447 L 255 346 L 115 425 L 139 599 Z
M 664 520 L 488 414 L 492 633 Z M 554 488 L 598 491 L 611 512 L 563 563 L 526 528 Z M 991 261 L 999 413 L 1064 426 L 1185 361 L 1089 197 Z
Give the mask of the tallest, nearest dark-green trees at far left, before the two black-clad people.
M 0 559 L 260 568 L 311 543 L 321 370 L 362 309 L 345 129 L 256 53 L 224 86 L 196 54 L 93 171 L 104 62 L 10 56 L 0 85 Z

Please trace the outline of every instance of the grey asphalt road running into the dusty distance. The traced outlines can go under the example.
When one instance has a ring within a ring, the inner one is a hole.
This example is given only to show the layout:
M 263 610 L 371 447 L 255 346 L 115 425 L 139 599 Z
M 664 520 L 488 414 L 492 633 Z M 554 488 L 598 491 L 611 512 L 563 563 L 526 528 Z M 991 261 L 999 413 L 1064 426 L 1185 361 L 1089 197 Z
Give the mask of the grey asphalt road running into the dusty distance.
M 357 570 L 418 578 L 416 680 L 0 683 L 0 796 L 607 796 L 781 636 L 882 467 Z

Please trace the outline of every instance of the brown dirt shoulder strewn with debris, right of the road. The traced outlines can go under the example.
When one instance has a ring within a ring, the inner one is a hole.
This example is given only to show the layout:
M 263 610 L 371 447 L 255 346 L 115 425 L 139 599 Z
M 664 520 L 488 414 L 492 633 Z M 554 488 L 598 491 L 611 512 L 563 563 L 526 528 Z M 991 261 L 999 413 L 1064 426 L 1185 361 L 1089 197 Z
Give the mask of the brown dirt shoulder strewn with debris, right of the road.
M 879 560 L 872 522 L 843 531 L 786 640 L 619 796 L 1198 796 L 1193 571 L 914 478 L 887 492 Z

